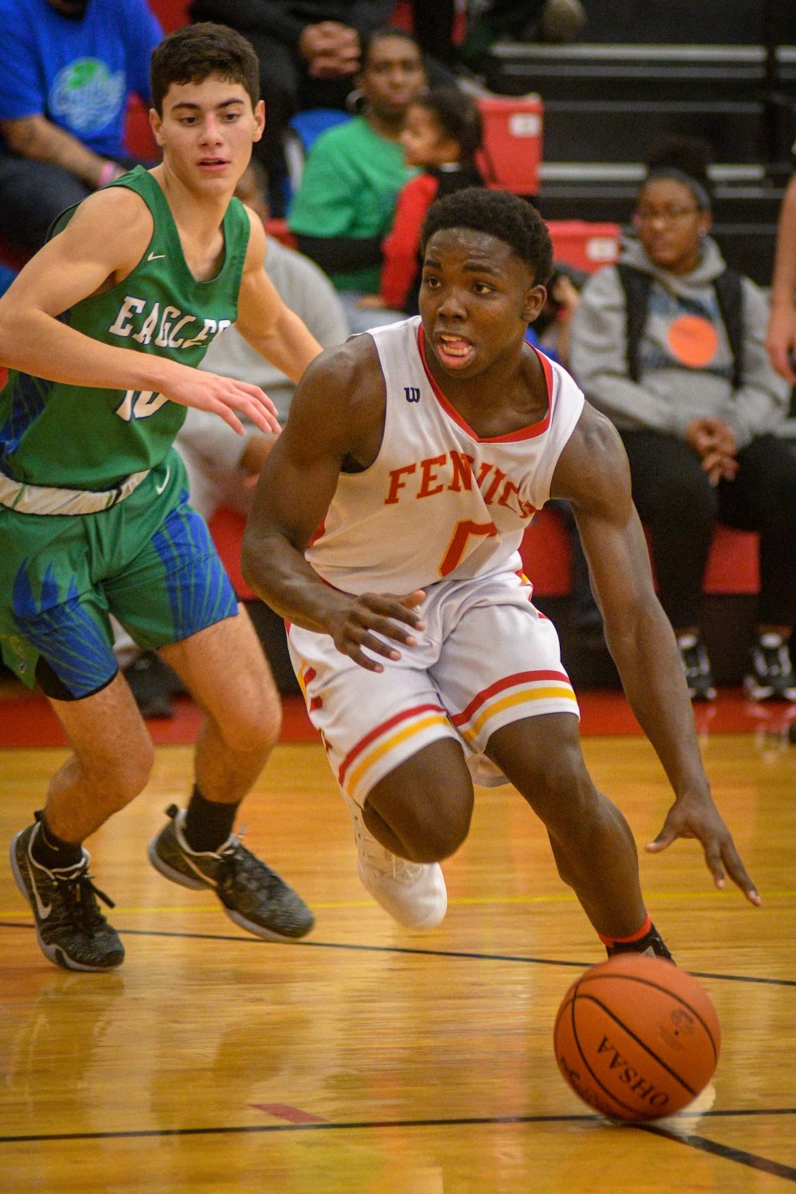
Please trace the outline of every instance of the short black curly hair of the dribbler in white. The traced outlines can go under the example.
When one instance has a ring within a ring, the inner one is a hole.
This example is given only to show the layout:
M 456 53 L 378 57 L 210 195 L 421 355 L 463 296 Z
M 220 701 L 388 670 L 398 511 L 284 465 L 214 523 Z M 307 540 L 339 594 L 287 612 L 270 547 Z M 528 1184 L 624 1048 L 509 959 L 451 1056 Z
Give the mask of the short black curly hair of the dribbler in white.
M 544 285 L 553 273 L 553 241 L 544 220 L 531 203 L 508 191 L 468 186 L 432 203 L 420 234 L 424 256 L 434 233 L 445 228 L 471 228 L 502 240 L 530 266 L 536 285 Z

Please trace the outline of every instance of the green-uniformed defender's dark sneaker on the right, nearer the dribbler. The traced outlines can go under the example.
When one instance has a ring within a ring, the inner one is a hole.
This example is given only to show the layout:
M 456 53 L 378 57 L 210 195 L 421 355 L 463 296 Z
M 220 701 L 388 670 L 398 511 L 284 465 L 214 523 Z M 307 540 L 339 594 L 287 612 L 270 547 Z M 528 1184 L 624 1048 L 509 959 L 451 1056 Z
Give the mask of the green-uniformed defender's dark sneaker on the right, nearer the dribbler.
M 247 850 L 233 833 L 217 853 L 192 850 L 183 830 L 185 810 L 169 805 L 169 818 L 149 843 L 155 870 L 183 887 L 210 887 L 235 924 L 267 941 L 294 941 L 315 917 L 288 884 Z

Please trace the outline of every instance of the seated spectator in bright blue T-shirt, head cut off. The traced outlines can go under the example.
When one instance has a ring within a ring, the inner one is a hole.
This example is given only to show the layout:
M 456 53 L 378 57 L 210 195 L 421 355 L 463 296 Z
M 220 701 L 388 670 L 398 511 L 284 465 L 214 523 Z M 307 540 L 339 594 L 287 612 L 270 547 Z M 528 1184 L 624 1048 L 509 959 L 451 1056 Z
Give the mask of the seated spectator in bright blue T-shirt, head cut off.
M 0 233 L 36 252 L 55 216 L 132 165 L 160 25 L 146 0 L 0 0 Z

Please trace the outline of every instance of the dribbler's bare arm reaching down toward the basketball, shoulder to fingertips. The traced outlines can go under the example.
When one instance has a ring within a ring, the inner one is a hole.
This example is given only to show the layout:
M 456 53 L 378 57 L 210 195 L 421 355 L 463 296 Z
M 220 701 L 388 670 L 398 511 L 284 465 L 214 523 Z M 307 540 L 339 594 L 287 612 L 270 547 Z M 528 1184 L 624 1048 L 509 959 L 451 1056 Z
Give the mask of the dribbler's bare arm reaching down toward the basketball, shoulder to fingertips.
M 674 633 L 653 587 L 622 441 L 590 406 L 561 454 L 551 496 L 572 503 L 609 648 L 633 712 L 675 793 L 664 829 L 648 849 L 696 837 L 716 886 L 723 887 L 727 873 L 752 904 L 759 904 L 710 795 Z

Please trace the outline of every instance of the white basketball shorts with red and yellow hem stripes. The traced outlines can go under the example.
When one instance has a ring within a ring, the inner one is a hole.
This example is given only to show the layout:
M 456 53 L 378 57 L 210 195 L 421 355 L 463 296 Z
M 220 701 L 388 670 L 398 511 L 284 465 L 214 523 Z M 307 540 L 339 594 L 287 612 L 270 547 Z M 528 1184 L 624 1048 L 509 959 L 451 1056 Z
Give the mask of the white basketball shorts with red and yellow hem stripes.
M 516 572 L 430 585 L 418 645 L 370 672 L 327 634 L 290 626 L 290 657 L 340 787 L 358 805 L 399 763 L 439 738 L 464 747 L 473 778 L 505 783 L 483 755 L 501 726 L 579 716 L 559 636 Z M 376 658 L 376 657 L 374 657 Z

